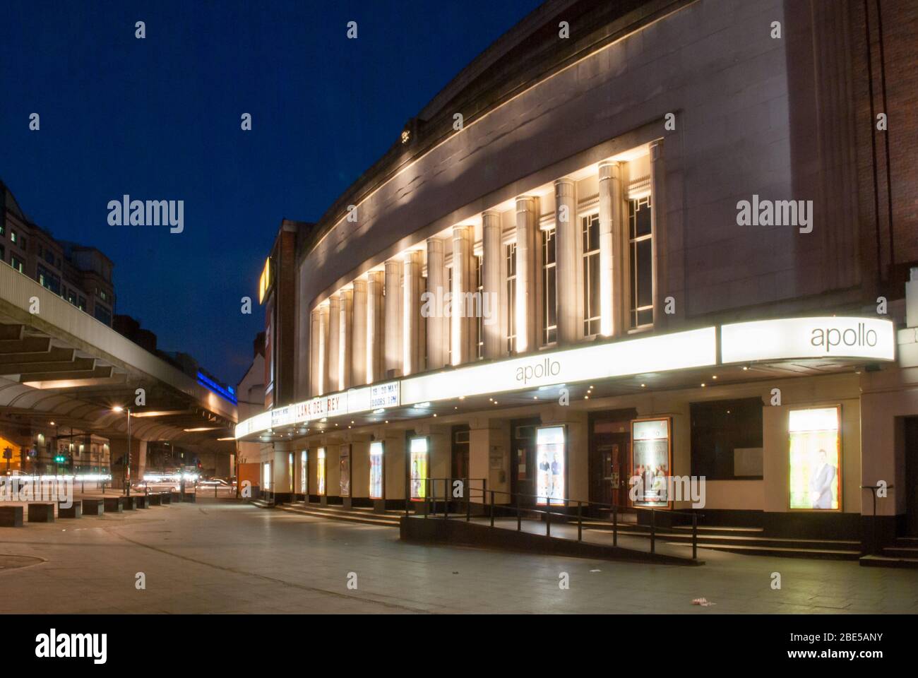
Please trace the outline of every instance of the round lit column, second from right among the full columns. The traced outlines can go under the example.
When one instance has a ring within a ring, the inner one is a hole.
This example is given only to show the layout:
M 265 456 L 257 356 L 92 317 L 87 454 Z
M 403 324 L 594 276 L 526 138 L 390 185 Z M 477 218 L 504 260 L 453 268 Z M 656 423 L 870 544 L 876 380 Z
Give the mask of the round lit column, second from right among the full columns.
M 573 344 L 583 335 L 583 328 L 577 327 L 577 291 L 582 282 L 577 277 L 577 191 L 574 180 L 567 177 L 554 182 L 554 229 L 558 344 Z

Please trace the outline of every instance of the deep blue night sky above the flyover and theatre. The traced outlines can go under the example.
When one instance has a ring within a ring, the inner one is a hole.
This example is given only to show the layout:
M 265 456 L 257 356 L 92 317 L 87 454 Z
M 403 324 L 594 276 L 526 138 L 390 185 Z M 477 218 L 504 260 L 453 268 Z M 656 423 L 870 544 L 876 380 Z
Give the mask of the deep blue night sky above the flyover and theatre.
M 115 262 L 117 312 L 235 382 L 280 220 L 317 220 L 539 4 L 4 0 L 0 177 L 39 226 Z M 185 232 L 109 226 L 107 202 L 126 193 L 185 200 Z

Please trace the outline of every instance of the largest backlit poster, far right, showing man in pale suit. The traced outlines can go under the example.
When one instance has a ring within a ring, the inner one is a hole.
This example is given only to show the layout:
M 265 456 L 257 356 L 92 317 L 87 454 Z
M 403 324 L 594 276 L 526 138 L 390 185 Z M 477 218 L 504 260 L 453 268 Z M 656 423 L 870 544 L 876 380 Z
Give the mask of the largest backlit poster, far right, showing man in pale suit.
M 841 446 L 837 407 L 789 412 L 790 508 L 841 509 Z

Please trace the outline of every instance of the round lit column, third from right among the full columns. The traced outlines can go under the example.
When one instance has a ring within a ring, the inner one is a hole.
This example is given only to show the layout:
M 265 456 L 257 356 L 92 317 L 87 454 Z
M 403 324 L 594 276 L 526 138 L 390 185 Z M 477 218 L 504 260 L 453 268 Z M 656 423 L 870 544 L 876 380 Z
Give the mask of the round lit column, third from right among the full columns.
M 516 353 L 534 350 L 538 344 L 536 330 L 536 270 L 535 243 L 539 228 L 539 201 L 529 196 L 517 198 L 516 229 Z

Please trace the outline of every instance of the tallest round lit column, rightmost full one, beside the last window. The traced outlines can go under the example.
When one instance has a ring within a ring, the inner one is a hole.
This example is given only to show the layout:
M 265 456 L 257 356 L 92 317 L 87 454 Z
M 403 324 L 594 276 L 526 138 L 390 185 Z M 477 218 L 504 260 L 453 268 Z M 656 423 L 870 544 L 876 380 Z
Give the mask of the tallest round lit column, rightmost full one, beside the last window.
M 621 165 L 599 163 L 599 333 L 603 336 L 625 332 L 621 227 Z

